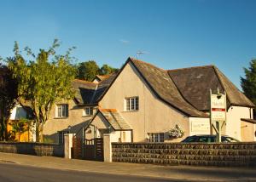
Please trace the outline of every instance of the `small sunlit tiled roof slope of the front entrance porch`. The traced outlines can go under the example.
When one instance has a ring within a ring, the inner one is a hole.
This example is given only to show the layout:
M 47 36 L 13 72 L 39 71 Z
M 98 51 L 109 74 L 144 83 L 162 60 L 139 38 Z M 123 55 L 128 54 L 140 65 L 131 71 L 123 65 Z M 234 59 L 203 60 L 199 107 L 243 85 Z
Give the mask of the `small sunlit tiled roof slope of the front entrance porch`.
M 131 126 L 115 109 L 99 109 L 114 130 L 131 130 Z

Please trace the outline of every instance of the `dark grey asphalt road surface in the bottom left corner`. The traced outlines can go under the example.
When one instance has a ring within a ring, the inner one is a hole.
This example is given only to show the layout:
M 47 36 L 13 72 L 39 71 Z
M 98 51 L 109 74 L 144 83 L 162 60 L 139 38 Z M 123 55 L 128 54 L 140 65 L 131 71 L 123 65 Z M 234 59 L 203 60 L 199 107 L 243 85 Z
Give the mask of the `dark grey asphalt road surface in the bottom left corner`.
M 87 173 L 55 168 L 35 168 L 20 164 L 0 163 L 1 182 L 79 182 L 79 181 L 189 181 L 185 179 L 160 179 L 130 175 L 113 175 L 105 173 Z

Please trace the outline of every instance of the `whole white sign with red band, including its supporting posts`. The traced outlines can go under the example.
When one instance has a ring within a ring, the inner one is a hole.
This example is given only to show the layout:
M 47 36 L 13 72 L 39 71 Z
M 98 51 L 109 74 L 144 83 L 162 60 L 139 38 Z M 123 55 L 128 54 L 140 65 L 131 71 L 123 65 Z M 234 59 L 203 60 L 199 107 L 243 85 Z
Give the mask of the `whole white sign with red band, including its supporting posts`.
M 217 142 L 221 142 L 221 128 L 226 121 L 226 93 L 220 94 L 217 88 L 217 94 L 212 94 L 210 89 L 211 100 L 211 133 L 212 128 L 216 131 Z

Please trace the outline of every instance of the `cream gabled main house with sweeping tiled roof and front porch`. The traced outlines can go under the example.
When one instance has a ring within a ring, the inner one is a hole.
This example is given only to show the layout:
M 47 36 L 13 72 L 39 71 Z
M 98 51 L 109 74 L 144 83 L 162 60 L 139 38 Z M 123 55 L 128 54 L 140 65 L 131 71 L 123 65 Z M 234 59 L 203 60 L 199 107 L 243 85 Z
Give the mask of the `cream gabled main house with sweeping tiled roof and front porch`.
M 163 70 L 133 58 L 96 97 L 98 109 L 85 137 L 110 133 L 112 141 L 173 142 L 210 134 L 210 88 L 227 94 L 222 134 L 255 141 L 255 105 L 216 66 Z M 176 126 L 184 131 L 183 138 L 170 137 L 169 131 Z

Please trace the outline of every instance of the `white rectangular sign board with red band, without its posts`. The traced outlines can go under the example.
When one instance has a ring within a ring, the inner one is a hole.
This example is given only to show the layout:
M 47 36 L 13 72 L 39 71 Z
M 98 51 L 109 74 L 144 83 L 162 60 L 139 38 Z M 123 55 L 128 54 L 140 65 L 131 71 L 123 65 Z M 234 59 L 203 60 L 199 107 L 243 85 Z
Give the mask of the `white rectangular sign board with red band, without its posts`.
M 211 120 L 212 122 L 226 121 L 225 94 L 211 94 Z

